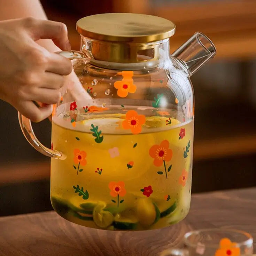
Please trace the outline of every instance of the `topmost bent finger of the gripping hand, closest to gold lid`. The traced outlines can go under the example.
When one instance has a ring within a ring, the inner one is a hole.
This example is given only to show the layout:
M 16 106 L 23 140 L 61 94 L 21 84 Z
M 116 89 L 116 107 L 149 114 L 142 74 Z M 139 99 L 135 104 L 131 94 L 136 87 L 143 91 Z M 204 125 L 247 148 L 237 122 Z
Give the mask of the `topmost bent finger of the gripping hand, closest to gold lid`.
M 24 19 L 25 26 L 30 30 L 34 41 L 39 39 L 52 39 L 54 44 L 63 51 L 70 51 L 68 30 L 64 23 L 34 18 Z

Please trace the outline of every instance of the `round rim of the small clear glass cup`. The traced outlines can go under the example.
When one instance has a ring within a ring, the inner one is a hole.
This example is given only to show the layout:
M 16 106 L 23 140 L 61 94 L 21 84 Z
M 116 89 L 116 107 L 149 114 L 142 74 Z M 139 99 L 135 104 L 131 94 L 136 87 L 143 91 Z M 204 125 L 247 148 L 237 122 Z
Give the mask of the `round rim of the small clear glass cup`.
M 199 229 L 199 230 L 192 230 L 192 231 L 187 232 L 184 235 L 184 243 L 185 243 L 185 245 L 190 246 L 190 247 L 197 247 L 198 243 L 190 242 L 189 239 L 188 239 L 189 236 L 191 236 L 193 234 L 198 235 L 200 233 L 214 232 L 214 231 L 226 232 L 226 233 L 240 233 L 242 235 L 245 235 L 247 237 L 247 239 L 245 238 L 245 240 L 242 241 L 242 242 L 235 242 L 238 247 L 245 246 L 245 245 L 248 245 L 248 244 L 249 245 L 253 244 L 253 236 L 250 233 L 248 233 L 246 231 L 234 229 L 234 228 L 203 228 L 203 229 Z M 216 244 L 216 245 L 209 245 L 208 247 L 218 248 L 219 243 Z

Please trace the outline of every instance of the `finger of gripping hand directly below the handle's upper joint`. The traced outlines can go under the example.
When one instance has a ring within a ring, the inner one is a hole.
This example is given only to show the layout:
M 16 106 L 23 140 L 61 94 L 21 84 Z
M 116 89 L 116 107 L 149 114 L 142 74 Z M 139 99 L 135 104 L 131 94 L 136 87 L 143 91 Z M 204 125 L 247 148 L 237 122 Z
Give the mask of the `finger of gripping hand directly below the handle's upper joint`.
M 72 69 L 73 66 L 69 59 L 56 53 L 51 53 L 49 55 L 46 71 L 66 76 L 70 74 Z

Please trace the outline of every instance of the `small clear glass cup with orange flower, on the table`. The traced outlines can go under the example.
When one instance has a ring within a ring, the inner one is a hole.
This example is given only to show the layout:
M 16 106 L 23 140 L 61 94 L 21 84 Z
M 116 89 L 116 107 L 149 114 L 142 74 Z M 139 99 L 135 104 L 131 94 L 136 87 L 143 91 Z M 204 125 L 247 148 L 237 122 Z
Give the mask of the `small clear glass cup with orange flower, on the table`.
M 204 229 L 185 234 L 183 249 L 168 249 L 160 256 L 240 256 L 253 255 L 253 237 L 240 230 Z

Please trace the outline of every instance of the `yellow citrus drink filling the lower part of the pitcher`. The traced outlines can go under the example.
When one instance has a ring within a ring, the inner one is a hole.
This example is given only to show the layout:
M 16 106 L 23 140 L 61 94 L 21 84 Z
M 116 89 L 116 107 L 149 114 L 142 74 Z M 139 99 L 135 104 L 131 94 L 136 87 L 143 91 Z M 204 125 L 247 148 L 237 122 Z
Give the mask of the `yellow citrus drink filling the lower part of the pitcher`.
M 193 120 L 181 124 L 171 119 L 166 125 L 166 117 L 146 116 L 142 132 L 134 135 L 122 128 L 122 114 L 79 119 L 73 127 L 70 119 L 53 118 L 52 145 L 65 155 L 64 160 L 51 162 L 51 199 L 59 215 L 107 230 L 162 228 L 187 215 Z M 100 143 L 90 131 L 92 124 L 102 131 Z M 184 137 L 181 129 L 185 129 Z M 149 151 L 164 140 L 169 142 L 172 157 L 156 166 Z

